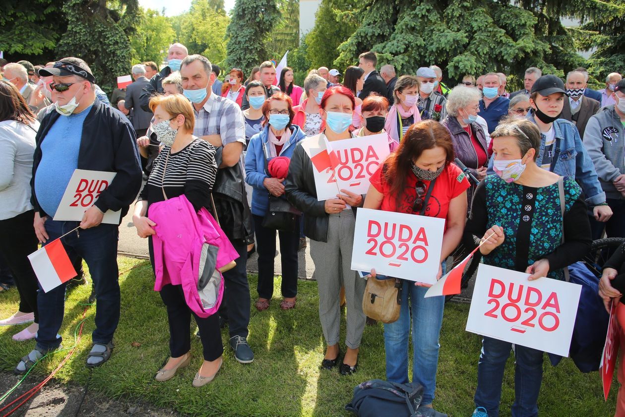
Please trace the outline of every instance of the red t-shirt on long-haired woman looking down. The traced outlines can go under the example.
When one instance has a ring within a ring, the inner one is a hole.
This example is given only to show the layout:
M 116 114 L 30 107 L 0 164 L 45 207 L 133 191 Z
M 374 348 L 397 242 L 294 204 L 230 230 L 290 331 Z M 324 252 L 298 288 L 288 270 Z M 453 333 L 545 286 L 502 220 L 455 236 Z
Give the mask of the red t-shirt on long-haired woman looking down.
M 384 194 L 382 199 L 381 210 L 395 211 L 397 213 L 419 214 L 412 211 L 412 204 L 417 197 L 416 184 L 417 177 L 412 173 L 408 174 L 406 181 L 406 189 L 402 196 L 401 203 L 397 207 L 397 198 L 395 195 L 389 194 L 391 190 L 391 184 L 386 182 L 382 169 L 386 165 L 380 164 L 377 171 L 371 176 L 369 181 L 379 193 Z M 427 187 L 429 187 L 430 181 L 423 181 Z M 441 175 L 436 179 L 434 183 L 434 189 L 427 201 L 427 208 L 425 216 L 437 217 L 441 219 L 447 218 L 447 211 L 449 211 L 449 201 L 462 194 L 469 188 L 469 181 L 466 179 L 461 169 L 455 164 L 447 164 L 445 169 L 442 170 Z

